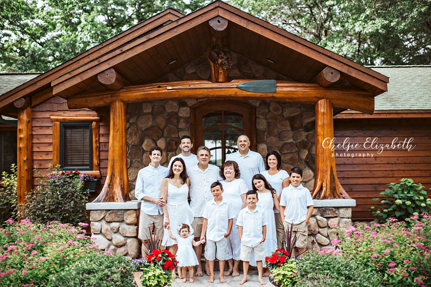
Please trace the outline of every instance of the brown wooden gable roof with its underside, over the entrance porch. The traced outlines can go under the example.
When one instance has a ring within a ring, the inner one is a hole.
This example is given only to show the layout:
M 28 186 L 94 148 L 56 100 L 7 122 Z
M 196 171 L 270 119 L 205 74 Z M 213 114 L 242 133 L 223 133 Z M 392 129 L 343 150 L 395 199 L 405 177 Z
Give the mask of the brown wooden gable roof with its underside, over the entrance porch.
M 126 86 L 152 83 L 204 55 L 212 43 L 208 21 L 228 20 L 222 44 L 296 82 L 310 83 L 325 67 L 340 71 L 342 82 L 374 96 L 387 90 L 388 78 L 316 44 L 240 11 L 224 2 L 183 16 L 168 9 L 97 45 L 72 60 L 0 96 L 0 109 L 32 96 L 35 106 L 52 95 L 68 98 L 106 89 L 97 74 L 114 68 Z

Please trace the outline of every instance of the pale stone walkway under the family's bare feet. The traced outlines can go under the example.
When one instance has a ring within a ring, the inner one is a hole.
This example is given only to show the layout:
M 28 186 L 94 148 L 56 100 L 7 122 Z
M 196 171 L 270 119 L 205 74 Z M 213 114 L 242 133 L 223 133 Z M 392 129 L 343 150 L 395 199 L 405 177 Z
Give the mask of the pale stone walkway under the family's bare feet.
M 196 277 L 194 276 L 194 283 L 189 283 L 187 281 L 186 283 L 181 282 L 183 279 L 175 279 L 174 282 L 172 282 L 172 287 L 239 287 L 238 284 L 239 281 L 242 279 L 242 271 L 240 272 L 239 277 L 232 277 L 232 276 L 225 276 L 226 283 L 220 283 L 218 280 L 218 271 L 216 272 L 216 279 L 214 280 L 214 283 L 208 283 L 208 279 L 210 277 L 207 275 L 204 275 L 203 277 Z M 273 287 L 271 283 L 269 283 L 268 277 L 263 278 L 266 282 L 265 287 Z M 261 284 L 259 283 L 258 279 L 258 271 L 257 270 L 250 270 L 248 272 L 248 281 L 245 282 L 243 287 L 260 287 Z

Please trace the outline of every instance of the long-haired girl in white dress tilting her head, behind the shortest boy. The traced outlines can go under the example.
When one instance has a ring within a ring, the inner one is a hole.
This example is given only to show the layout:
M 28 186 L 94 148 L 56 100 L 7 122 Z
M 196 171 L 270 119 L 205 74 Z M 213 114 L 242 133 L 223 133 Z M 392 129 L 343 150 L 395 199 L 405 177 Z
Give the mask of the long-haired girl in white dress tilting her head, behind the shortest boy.
M 272 253 L 277 249 L 277 235 L 275 232 L 275 219 L 274 219 L 274 208 L 280 211 L 280 202 L 277 198 L 277 194 L 272 186 L 268 183 L 266 178 L 257 174 L 252 178 L 253 190 L 257 191 L 258 199 L 256 206 L 263 209 L 268 220 L 266 225 L 266 237 L 265 237 L 265 256 L 271 256 Z M 253 258 L 254 260 L 254 258 Z M 250 264 L 251 260 L 250 260 Z M 263 262 L 263 276 L 269 276 L 269 269 L 266 268 L 266 264 Z

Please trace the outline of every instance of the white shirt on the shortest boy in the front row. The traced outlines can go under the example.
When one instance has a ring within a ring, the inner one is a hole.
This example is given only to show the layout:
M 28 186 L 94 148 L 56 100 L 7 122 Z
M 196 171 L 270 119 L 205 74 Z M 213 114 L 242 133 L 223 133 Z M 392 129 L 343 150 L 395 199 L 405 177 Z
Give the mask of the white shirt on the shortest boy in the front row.
M 267 225 L 265 212 L 256 206 L 253 212 L 248 206 L 239 212 L 237 225 L 242 226 L 241 242 L 249 247 L 255 247 L 263 239 L 263 226 Z

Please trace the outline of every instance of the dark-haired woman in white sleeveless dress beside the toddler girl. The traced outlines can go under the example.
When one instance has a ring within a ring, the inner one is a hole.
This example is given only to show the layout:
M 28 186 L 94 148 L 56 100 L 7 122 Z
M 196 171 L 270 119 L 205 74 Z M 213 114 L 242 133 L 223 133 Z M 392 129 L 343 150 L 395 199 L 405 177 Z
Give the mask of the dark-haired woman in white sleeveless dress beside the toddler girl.
M 187 176 L 186 164 L 182 158 L 175 158 L 172 162 L 169 174 L 163 178 L 160 187 L 160 196 L 166 201 L 163 206 L 164 227 L 162 245 L 170 246 L 169 250 L 173 255 L 178 250 L 177 242 L 169 237 L 168 227 L 170 227 L 175 237 L 180 237 L 177 226 L 180 223 L 192 225 L 194 213 L 187 200 L 189 196 L 190 180 Z M 192 228 L 190 228 L 192 229 Z M 193 230 L 190 230 L 193 234 Z M 175 272 L 172 273 L 175 276 Z M 181 274 L 179 275 L 181 277 Z

